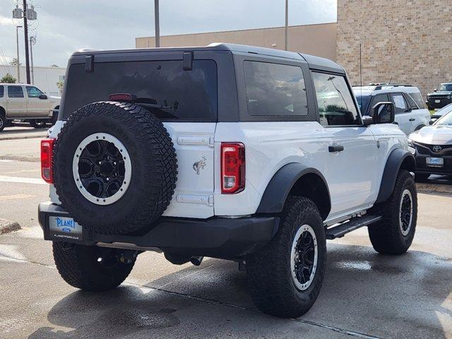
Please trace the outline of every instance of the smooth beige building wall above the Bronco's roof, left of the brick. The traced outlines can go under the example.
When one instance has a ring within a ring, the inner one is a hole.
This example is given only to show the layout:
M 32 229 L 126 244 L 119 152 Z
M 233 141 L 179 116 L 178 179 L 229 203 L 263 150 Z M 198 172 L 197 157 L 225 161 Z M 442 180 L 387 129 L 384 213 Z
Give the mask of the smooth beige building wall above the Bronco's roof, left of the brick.
M 336 59 L 336 23 L 290 26 L 288 49 Z M 206 46 L 212 42 L 250 44 L 259 47 L 284 49 L 284 28 L 230 30 L 225 32 L 166 35 L 160 37 L 161 47 Z M 136 47 L 154 47 L 154 37 L 137 37 Z

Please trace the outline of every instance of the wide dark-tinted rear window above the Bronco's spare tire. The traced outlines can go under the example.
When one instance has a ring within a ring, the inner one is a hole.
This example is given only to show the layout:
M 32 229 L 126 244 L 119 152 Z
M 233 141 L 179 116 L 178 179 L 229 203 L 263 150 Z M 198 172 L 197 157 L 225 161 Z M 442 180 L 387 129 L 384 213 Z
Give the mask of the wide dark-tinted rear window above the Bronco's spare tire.
M 69 69 L 63 119 L 91 102 L 129 93 L 160 119 L 217 120 L 217 65 L 194 60 L 184 71 L 182 61 L 105 62 L 85 72 L 85 64 Z

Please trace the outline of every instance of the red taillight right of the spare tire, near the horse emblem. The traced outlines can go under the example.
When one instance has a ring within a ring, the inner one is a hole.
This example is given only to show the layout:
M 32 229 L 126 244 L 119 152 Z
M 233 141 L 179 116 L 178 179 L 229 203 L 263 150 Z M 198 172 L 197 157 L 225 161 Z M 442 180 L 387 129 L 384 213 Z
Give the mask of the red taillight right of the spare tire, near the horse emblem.
M 233 194 L 245 188 L 245 146 L 221 143 L 221 193 Z

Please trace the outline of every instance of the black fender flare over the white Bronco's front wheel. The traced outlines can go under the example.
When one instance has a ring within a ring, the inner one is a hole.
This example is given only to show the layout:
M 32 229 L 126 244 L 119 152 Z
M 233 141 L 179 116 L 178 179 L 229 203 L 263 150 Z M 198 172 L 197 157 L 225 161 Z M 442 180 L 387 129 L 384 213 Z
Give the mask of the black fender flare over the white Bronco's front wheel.
M 403 148 L 396 148 L 389 154 L 386 166 L 384 167 L 383 177 L 381 178 L 379 195 L 375 203 L 386 201 L 391 196 L 396 185 L 397 174 L 404 163 L 407 164 L 403 167 L 404 169 L 415 172 L 416 160 L 410 151 L 404 150 Z

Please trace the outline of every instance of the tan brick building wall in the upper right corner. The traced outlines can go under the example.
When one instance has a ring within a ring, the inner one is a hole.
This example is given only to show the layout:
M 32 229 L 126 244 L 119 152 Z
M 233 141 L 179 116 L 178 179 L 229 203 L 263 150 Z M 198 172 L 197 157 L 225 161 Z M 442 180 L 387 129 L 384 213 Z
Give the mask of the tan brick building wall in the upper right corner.
M 359 85 L 452 82 L 452 0 L 338 0 L 337 61 Z

